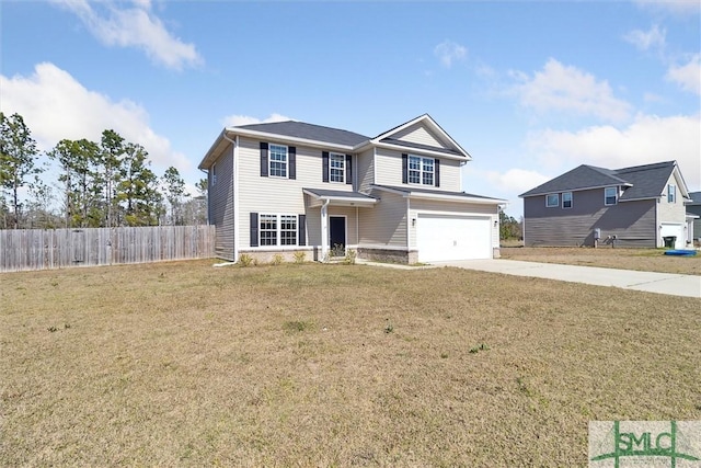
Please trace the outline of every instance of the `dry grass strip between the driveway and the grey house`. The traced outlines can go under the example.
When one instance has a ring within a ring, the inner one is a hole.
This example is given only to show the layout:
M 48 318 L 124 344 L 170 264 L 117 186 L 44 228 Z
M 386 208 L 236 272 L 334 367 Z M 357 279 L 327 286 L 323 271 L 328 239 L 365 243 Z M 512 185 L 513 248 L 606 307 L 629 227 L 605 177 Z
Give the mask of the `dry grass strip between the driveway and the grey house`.
M 605 269 L 701 275 L 701 252 L 694 256 L 665 255 L 664 249 L 591 249 L 576 247 L 506 247 L 503 259 L 526 262 L 601 266 Z

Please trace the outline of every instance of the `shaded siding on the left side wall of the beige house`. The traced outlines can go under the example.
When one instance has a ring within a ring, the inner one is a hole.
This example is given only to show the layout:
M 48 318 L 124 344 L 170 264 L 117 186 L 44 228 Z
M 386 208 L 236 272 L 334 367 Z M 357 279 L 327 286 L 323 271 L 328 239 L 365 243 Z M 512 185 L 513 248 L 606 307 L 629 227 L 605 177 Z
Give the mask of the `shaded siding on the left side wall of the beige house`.
M 217 182 L 208 175 L 209 224 L 217 227 L 215 254 L 220 259 L 233 258 L 233 146 L 229 145 L 215 162 Z

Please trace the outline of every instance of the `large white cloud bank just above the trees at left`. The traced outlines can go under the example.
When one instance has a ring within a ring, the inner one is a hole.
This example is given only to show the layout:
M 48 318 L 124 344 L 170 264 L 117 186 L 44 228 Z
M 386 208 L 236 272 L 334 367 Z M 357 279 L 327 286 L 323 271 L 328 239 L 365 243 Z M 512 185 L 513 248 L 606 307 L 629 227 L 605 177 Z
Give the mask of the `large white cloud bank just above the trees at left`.
M 146 148 L 157 173 L 170 165 L 181 174 L 192 169 L 184 155 L 173 151 L 168 138 L 149 127 L 143 107 L 90 91 L 53 64 L 37 65 L 30 77 L 0 75 L 0 103 L 5 114 L 16 112 L 24 117 L 42 151 L 64 138 L 99 142 L 103 130 L 114 129 Z

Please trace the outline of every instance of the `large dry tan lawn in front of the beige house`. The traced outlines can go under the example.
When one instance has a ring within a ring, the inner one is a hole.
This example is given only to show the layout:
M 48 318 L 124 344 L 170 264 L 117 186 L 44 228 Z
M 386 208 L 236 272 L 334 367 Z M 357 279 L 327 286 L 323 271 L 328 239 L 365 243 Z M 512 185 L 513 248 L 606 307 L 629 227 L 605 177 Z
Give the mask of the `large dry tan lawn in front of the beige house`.
M 701 300 L 456 269 L 0 275 L 1 466 L 585 466 L 701 420 Z

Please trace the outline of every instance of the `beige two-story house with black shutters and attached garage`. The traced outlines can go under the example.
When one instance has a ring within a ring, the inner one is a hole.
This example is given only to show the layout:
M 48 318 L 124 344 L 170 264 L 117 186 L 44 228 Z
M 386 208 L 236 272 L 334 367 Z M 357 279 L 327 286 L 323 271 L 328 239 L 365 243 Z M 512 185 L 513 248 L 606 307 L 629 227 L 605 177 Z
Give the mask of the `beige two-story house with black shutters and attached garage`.
M 428 115 L 375 138 L 301 122 L 226 127 L 208 172 L 216 253 L 404 263 L 498 255 L 504 199 L 462 192 L 472 158 Z

